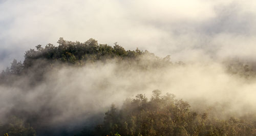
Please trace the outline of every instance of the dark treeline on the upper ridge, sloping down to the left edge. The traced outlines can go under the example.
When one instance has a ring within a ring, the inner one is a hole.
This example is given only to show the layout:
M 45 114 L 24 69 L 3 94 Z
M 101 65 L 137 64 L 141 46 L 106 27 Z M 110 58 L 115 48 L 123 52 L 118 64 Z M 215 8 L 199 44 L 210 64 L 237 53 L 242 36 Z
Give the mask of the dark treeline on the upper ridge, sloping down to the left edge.
M 26 51 L 24 62 L 13 60 L 10 67 L 7 67 L 1 74 L 2 78 L 6 75 L 21 75 L 33 66 L 45 68 L 53 65 L 55 62 L 66 62 L 69 64 L 84 65 L 87 61 L 106 60 L 110 58 L 136 58 L 147 51 L 139 49 L 135 51 L 125 51 L 123 47 L 115 43 L 115 46 L 99 44 L 95 39 L 89 39 L 86 42 L 72 42 L 59 38 L 58 46 L 49 43 L 43 48 L 41 45 L 36 49 Z M 38 66 L 39 65 L 39 66 Z

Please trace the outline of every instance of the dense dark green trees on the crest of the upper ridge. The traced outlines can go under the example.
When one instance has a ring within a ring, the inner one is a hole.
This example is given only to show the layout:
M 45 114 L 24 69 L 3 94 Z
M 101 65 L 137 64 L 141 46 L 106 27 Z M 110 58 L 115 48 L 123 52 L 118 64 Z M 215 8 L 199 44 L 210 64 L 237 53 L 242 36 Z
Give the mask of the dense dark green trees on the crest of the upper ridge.
M 31 49 L 25 53 L 24 66 L 30 67 L 34 60 L 47 59 L 47 60 L 60 60 L 68 63 L 79 63 L 86 60 L 104 60 L 106 58 L 130 58 L 138 56 L 136 54 L 143 53 L 142 51 L 134 51 L 131 55 L 131 51 L 125 51 L 115 43 L 114 48 L 106 44 L 98 44 L 98 41 L 91 38 L 84 43 L 66 41 L 63 38 L 59 38 L 59 46 L 55 47 L 53 44 L 47 44 L 45 48 L 41 45 L 36 46 L 36 50 Z

